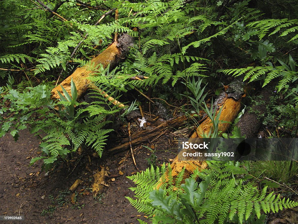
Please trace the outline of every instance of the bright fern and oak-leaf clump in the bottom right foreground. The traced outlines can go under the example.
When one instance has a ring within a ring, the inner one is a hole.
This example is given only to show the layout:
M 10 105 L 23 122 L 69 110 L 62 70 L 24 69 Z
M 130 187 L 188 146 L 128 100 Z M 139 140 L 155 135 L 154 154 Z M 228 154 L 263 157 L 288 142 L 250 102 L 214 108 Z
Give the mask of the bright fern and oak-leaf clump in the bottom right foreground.
M 168 167 L 151 167 L 129 177 L 136 199 L 127 197 L 138 211 L 150 216 L 152 223 L 264 223 L 265 214 L 295 207 L 298 202 L 267 194 L 254 186 L 244 164 L 207 162 L 209 169 L 194 174 L 181 184 L 184 170 L 173 179 Z M 196 179 L 202 179 L 198 186 Z M 248 179 L 250 181 L 248 181 Z M 156 186 L 162 182 L 161 187 Z M 152 216 L 154 214 L 154 216 Z

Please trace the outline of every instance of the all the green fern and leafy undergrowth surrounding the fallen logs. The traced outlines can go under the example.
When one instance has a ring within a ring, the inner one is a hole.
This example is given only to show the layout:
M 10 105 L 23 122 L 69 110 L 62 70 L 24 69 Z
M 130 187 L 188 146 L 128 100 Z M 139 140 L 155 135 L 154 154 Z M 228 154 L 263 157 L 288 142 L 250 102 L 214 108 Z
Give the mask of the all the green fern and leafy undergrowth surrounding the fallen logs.
M 135 99 L 131 99 L 134 88 L 143 92 L 152 88 L 153 97 L 167 101 L 187 101 L 181 110 L 198 114 L 207 92 L 218 95 L 235 76 L 243 77 L 254 89 L 275 86 L 277 94 L 270 102 L 263 102 L 267 103 L 263 124 L 273 128 L 273 136 L 280 136 L 277 130 L 282 128 L 288 136 L 297 137 L 296 1 L 41 3 L 0 1 L 4 24 L 0 28 L 0 137 L 10 132 L 17 140 L 19 131 L 30 127 L 41 137 L 43 152 L 31 163 L 43 159 L 48 169 L 80 147 L 91 147 L 101 156 L 105 139 L 113 130 L 111 121 L 115 116 L 121 120 L 135 109 Z M 74 83 L 71 96 L 63 91 L 61 101 L 53 102 L 50 91 L 56 81 L 102 52 L 114 41 L 115 33 L 128 33 L 135 39 L 127 59 L 113 70 L 87 65 L 95 71 L 91 78 L 94 85 L 131 107 L 121 116 L 119 108 L 107 102 L 100 92 L 94 93 L 93 102 L 78 102 Z M 128 79 L 136 75 L 149 78 Z M 219 116 L 215 118 L 212 106 L 204 106 L 214 126 L 213 133 L 205 134 L 217 137 Z M 232 134 L 239 136 L 239 129 L 234 128 Z M 181 185 L 182 172 L 159 190 L 153 188 L 166 167 L 148 169 L 131 177 L 137 184 L 132 188 L 137 199 L 129 200 L 139 211 L 155 214 L 151 216 L 153 223 L 262 223 L 269 211 L 297 206 L 297 202 L 280 199 L 272 192 L 267 194 L 266 187 L 257 188 L 243 164 L 209 166 L 209 170 L 195 172 Z M 296 164 L 284 166 L 291 168 L 288 179 L 295 176 L 292 168 L 297 170 Z M 254 167 L 265 172 L 262 164 Z M 282 169 L 278 171 L 281 173 Z M 195 182 L 197 177 L 203 180 L 199 185 Z

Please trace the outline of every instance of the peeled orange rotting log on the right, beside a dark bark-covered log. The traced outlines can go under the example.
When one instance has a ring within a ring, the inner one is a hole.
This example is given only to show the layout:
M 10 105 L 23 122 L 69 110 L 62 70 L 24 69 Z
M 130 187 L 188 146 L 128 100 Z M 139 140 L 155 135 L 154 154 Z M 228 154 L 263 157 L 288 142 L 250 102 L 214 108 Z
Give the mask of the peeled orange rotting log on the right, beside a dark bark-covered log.
M 236 116 L 238 115 L 241 109 L 241 99 L 245 97 L 244 85 L 241 78 L 235 79 L 230 85 L 229 88 L 222 92 L 215 100 L 214 107 L 217 112 L 222 108 L 219 120 L 221 121 L 218 125 L 218 131 L 226 132 L 230 126 L 230 123 L 233 122 Z M 217 115 L 216 115 L 217 116 Z M 198 126 L 196 131 L 191 135 L 190 138 L 203 138 L 203 133 L 208 134 L 212 130 L 212 121 L 205 115 L 205 119 L 202 119 L 202 123 Z M 195 169 L 199 171 L 207 168 L 207 163 L 204 160 L 186 160 L 182 156 L 183 151 L 180 151 L 177 157 L 171 163 L 171 175 L 175 178 L 177 175 L 185 168 L 184 179 L 190 177 L 193 174 Z M 162 185 L 162 179 L 167 181 L 168 173 L 165 173 L 165 176 L 159 180 L 159 184 L 156 186 L 158 189 Z

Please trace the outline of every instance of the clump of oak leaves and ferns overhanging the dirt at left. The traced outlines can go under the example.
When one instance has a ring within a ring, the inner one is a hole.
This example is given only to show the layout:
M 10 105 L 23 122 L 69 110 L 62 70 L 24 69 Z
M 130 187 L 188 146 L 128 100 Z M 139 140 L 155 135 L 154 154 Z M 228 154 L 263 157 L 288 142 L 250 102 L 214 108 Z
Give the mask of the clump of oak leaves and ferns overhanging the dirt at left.
M 58 103 L 50 100 L 50 89 L 46 85 L 28 87 L 23 92 L 13 89 L 5 92 L 3 88 L 0 90 L 5 93 L 1 101 L 4 107 L 0 113 L 6 114 L 1 118 L 1 136 L 10 131 L 17 140 L 19 130 L 27 126 L 31 127 L 32 133 L 46 134 L 40 145 L 43 154 L 30 161 L 33 164 L 43 159 L 46 169 L 58 158 L 65 158 L 67 154 L 76 151 L 83 143 L 101 156 L 107 134 L 112 131 L 104 128 L 111 122 L 106 121 L 105 117 L 119 111 L 116 106 L 107 110 L 96 102 L 91 105 L 76 102 L 77 90 L 73 81 L 72 96 L 63 89 L 65 97 L 60 93 L 61 101 Z M 96 92 L 94 97 L 104 99 L 100 92 Z M 7 104 L 10 106 L 5 106 Z M 81 108 L 82 105 L 87 107 Z M 59 113 L 55 111 L 55 107 L 60 108 Z

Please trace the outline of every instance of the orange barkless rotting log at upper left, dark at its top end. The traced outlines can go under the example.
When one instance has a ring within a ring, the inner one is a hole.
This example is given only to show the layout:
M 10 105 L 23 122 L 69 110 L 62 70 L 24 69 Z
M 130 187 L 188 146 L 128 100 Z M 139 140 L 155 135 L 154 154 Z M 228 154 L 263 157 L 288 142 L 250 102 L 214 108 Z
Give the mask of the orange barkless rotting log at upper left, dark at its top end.
M 110 65 L 110 69 L 113 69 L 127 56 L 130 47 L 133 46 L 133 42 L 134 39 L 128 34 L 120 36 L 117 42 L 113 42 L 102 53 L 91 59 L 90 64 L 94 67 L 97 67 L 101 64 L 104 68 Z M 94 86 L 90 86 L 91 82 L 88 79 L 88 77 L 93 73 L 94 71 L 88 65 L 78 67 L 74 73 L 68 76 L 63 82 L 60 83 L 60 85 L 52 89 L 51 99 L 57 100 L 60 98 L 57 91 L 63 94 L 61 85 L 66 89 L 69 95 L 71 95 L 71 79 L 73 79 L 75 82 L 77 95 L 78 98 L 80 98 L 89 88 L 94 88 Z M 105 97 L 109 97 L 108 94 L 103 94 Z M 109 100 L 111 100 L 114 104 L 117 104 L 117 101 L 114 101 L 113 99 Z

